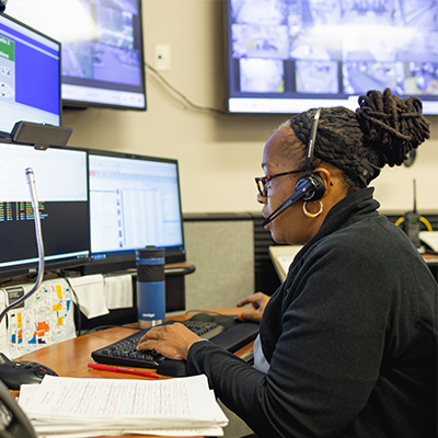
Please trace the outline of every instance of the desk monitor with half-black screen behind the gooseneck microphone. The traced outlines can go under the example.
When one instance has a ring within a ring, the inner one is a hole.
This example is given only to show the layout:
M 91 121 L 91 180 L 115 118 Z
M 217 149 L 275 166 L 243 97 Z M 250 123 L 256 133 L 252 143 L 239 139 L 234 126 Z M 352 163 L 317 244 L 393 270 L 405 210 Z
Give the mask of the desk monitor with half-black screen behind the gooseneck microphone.
M 35 175 L 46 270 L 90 260 L 87 152 L 0 143 L 1 278 L 38 267 L 27 168 Z

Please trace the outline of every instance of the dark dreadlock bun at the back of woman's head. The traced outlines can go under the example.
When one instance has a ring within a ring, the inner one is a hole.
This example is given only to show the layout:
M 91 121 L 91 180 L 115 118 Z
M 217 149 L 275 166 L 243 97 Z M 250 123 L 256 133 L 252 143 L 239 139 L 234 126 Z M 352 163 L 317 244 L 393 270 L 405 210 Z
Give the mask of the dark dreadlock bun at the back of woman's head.
M 401 100 L 390 89 L 371 90 L 359 97 L 356 116 L 365 143 L 379 154 L 379 165 L 401 165 L 412 149 L 430 137 L 430 123 L 423 116 L 418 97 Z

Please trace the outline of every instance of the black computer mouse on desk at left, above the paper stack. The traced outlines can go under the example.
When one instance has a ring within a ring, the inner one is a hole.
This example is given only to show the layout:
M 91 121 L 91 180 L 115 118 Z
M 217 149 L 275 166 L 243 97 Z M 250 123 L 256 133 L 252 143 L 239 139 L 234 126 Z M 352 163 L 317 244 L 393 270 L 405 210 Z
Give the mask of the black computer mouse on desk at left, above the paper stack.
M 46 374 L 58 376 L 44 365 L 30 360 L 12 361 L 0 353 L 0 380 L 10 390 L 20 390 L 21 384 L 41 383 Z

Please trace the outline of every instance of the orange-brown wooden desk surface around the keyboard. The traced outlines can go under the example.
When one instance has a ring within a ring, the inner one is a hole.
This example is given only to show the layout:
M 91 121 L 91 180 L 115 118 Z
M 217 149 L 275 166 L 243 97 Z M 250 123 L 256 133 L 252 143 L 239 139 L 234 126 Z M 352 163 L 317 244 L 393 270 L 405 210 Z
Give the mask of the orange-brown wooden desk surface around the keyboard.
M 215 309 L 212 310 L 212 312 L 222 314 L 238 314 L 239 309 L 235 308 Z M 172 316 L 172 320 L 180 320 L 180 321 L 185 320 L 189 318 L 192 314 L 193 313 Z M 102 348 L 105 345 L 112 344 L 118 339 L 122 339 L 123 337 L 126 337 L 135 332 L 137 332 L 137 330 L 132 327 L 107 328 L 101 332 L 83 335 L 74 339 L 69 339 L 61 342 L 59 344 L 50 345 L 37 351 L 22 356 L 16 360 L 33 360 L 43 364 L 55 370 L 61 377 L 148 380 L 149 378 L 141 376 L 123 374 L 120 372 L 100 371 L 88 368 L 88 364 L 93 362 L 93 359 L 91 357 L 92 351 L 94 351 L 97 348 Z M 251 351 L 252 344 L 253 343 L 249 344 L 247 346 L 237 351 L 237 355 L 242 356 Z M 150 369 L 147 371 L 155 371 L 155 370 Z M 169 378 L 162 377 L 162 379 L 169 379 Z M 114 436 L 112 437 L 103 436 L 103 437 L 114 438 Z M 123 435 L 120 437 L 139 438 L 139 435 L 129 434 L 129 435 Z

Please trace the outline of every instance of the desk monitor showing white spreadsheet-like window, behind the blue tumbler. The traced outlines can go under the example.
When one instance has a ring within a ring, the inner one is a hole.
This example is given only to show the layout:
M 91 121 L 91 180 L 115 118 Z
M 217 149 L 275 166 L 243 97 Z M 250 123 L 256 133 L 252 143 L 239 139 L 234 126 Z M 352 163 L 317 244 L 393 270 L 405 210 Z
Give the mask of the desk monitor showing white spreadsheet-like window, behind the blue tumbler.
M 176 160 L 89 151 L 92 263 L 85 273 L 136 266 L 136 249 L 165 250 L 165 262 L 185 261 Z

